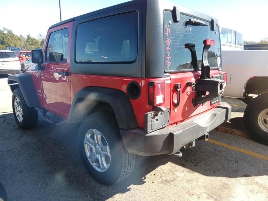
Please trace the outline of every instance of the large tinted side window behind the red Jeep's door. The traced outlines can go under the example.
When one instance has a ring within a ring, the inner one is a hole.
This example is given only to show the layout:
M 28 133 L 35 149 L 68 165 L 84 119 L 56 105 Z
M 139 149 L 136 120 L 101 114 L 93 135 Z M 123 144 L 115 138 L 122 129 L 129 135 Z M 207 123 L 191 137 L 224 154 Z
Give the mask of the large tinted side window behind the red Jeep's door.
M 82 23 L 78 25 L 76 34 L 76 61 L 134 61 L 137 39 L 137 12 Z

